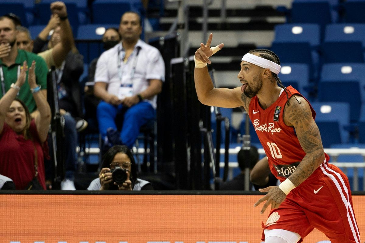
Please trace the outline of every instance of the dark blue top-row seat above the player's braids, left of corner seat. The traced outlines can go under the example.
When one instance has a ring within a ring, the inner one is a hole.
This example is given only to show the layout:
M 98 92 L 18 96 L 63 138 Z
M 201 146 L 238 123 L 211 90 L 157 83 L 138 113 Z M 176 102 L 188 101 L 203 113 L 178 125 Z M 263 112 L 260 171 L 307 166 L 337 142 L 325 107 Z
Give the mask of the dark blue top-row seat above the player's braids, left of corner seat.
M 319 24 L 323 36 L 324 27 L 338 20 L 338 13 L 334 10 L 337 5 L 337 0 L 294 0 L 291 22 Z

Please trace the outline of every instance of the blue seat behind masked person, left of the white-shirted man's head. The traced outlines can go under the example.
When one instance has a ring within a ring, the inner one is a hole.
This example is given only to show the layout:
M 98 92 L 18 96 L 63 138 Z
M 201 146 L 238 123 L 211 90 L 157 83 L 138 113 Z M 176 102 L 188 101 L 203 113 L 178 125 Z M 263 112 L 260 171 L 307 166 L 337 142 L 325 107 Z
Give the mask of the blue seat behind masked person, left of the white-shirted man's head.
M 110 27 L 118 28 L 118 24 L 85 24 L 78 27 L 76 47 L 84 55 L 85 63 L 98 58 L 104 51 L 101 39 L 105 30 Z

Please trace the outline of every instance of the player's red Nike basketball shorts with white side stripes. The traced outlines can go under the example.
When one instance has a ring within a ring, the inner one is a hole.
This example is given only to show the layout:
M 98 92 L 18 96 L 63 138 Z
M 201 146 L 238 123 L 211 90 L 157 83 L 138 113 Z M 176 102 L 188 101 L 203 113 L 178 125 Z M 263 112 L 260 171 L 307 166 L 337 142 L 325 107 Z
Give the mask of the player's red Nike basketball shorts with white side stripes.
M 272 209 L 262 227 L 296 232 L 302 238 L 299 242 L 317 228 L 332 243 L 361 243 L 349 180 L 338 167 L 327 162 L 294 188 L 279 208 Z

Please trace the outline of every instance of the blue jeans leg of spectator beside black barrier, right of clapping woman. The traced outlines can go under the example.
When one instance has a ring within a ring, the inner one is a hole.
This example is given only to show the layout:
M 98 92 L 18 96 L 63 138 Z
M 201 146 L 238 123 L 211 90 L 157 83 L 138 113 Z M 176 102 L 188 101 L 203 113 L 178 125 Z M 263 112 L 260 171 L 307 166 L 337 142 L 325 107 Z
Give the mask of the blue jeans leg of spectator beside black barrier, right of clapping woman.
M 74 173 L 76 171 L 76 145 L 77 145 L 77 131 L 76 121 L 70 114 L 65 114 L 65 162 L 66 162 L 66 174 L 65 178 L 73 180 Z

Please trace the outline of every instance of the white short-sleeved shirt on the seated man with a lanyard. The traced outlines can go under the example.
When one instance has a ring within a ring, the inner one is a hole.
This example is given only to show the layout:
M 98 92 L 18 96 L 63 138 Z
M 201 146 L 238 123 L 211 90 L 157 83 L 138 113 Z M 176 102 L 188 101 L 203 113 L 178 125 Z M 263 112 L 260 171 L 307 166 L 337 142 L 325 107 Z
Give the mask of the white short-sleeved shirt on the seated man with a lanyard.
M 97 60 L 95 82 L 108 83 L 108 93 L 118 96 L 121 85 L 132 84 L 132 93 L 136 95 L 147 89 L 149 79 L 165 81 L 165 63 L 157 48 L 139 39 L 126 63 L 124 56 L 122 43 L 119 43 Z M 156 109 L 157 95 L 145 101 Z

